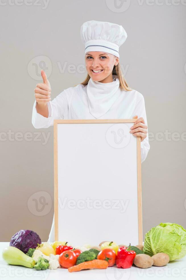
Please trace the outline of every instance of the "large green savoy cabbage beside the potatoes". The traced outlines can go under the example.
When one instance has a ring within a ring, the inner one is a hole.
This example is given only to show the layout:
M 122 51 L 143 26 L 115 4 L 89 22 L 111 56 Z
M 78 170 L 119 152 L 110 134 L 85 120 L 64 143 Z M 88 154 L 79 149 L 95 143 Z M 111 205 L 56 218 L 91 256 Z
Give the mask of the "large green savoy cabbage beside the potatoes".
M 160 223 L 145 235 L 143 252 L 149 256 L 166 253 L 170 261 L 186 255 L 186 230 L 177 224 Z

